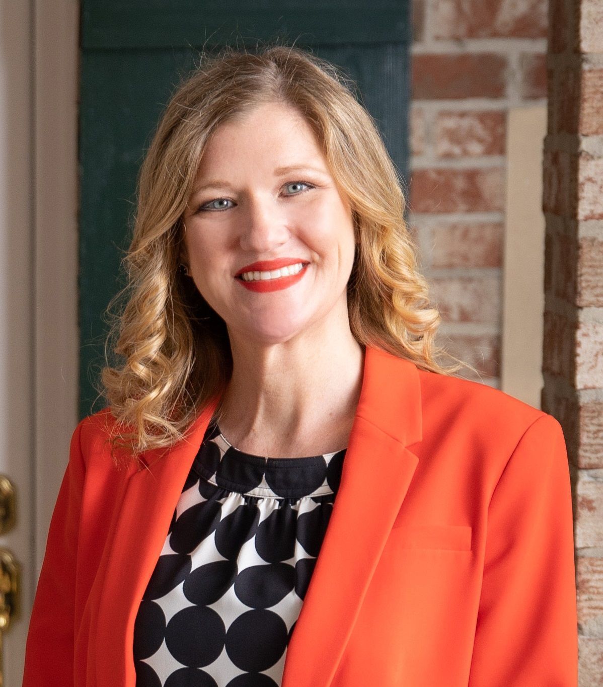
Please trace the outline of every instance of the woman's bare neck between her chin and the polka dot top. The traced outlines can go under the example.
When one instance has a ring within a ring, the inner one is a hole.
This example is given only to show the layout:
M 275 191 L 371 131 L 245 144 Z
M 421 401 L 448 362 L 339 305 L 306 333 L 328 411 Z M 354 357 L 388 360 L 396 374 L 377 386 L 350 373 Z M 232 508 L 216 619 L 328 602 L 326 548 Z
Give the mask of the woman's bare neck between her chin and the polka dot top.
M 278 438 L 275 445 L 302 444 L 321 431 L 345 446 L 364 369 L 364 347 L 349 326 L 270 346 L 250 345 L 236 334 L 230 339 L 233 373 L 219 423 L 232 444 L 265 442 L 266 436 Z

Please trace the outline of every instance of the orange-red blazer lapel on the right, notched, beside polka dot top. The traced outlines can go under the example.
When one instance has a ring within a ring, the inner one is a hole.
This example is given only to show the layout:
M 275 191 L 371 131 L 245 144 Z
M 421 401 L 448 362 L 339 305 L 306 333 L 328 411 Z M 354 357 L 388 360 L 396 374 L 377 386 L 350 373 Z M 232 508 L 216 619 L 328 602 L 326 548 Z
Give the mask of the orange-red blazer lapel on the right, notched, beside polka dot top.
M 328 687 L 418 458 L 418 370 L 366 347 L 363 385 L 341 482 L 285 657 L 282 687 Z

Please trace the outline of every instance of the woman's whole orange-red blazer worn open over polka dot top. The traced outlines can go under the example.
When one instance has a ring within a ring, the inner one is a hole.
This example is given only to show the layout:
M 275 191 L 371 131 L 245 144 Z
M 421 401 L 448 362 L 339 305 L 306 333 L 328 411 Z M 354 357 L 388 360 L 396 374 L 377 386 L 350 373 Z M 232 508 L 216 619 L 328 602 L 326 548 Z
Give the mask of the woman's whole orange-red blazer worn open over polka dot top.
M 23 687 L 135 687 L 134 621 L 217 398 L 187 439 L 113 466 L 73 433 Z M 367 347 L 339 491 L 283 687 L 575 687 L 569 466 L 558 422 Z M 221 687 L 221 686 L 220 686 Z

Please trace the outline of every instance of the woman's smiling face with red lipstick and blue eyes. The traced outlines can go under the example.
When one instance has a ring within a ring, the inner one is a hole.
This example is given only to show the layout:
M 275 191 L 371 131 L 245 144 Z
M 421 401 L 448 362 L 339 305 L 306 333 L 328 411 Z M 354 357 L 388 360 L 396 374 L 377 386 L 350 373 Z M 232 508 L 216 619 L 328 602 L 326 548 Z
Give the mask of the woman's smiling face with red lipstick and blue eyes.
M 183 221 L 183 262 L 231 340 L 280 343 L 323 325 L 349 326 L 351 207 L 292 107 L 263 104 L 216 129 Z M 285 264 L 296 273 L 265 279 Z

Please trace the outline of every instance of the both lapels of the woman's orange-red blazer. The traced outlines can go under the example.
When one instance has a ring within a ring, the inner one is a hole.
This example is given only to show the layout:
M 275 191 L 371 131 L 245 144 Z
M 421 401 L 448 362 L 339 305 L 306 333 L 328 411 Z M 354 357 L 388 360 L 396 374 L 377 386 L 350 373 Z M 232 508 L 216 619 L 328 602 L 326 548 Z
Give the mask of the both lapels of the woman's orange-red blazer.
M 205 407 L 185 440 L 169 451 L 150 452 L 150 469 L 133 472 L 126 481 L 92 639 L 100 686 L 135 687 L 132 646 L 138 606 L 218 400 Z M 331 684 L 418 464 L 407 446 L 421 438 L 416 365 L 366 346 L 341 482 L 288 644 L 282 687 Z

